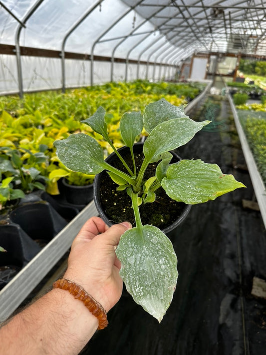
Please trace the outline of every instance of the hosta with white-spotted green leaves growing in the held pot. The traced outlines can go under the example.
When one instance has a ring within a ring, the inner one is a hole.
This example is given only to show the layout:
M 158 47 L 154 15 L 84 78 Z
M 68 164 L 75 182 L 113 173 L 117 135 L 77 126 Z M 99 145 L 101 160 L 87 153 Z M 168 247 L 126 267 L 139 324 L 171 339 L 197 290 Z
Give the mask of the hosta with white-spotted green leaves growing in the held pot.
M 183 106 L 177 107 L 160 99 L 148 104 L 143 115 L 141 112 L 123 114 L 120 132 L 131 152 L 132 169 L 113 146 L 104 117 L 105 110 L 99 107 L 90 118 L 82 122 L 101 134 L 112 146 L 125 166 L 126 173 L 105 162 L 100 144 L 84 133 L 55 141 L 56 153 L 71 170 L 85 174 L 99 174 L 106 170 L 117 184 L 117 198 L 119 190 L 127 191 L 136 227 L 122 235 L 116 249 L 122 264 L 120 274 L 135 302 L 160 322 L 176 288 L 177 257 L 171 241 L 159 228 L 142 224 L 139 206 L 146 204 L 149 209 L 149 204 L 156 201 L 159 187 L 173 200 L 198 204 L 214 200 L 244 185 L 236 181 L 233 175 L 223 174 L 218 165 L 207 164 L 200 159 L 171 164 L 170 151 L 189 142 L 210 123 L 193 121 L 186 116 Z M 148 137 L 143 145 L 144 160 L 137 170 L 133 145 L 143 127 Z M 144 173 L 151 163 L 158 164 L 156 174 L 144 179 Z

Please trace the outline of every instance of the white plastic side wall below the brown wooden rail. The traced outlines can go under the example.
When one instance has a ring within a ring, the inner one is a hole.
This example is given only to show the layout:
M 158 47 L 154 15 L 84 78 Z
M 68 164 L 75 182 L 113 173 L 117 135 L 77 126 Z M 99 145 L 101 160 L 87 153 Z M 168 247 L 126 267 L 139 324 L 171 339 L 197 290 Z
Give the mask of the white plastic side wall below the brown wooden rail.
M 47 89 L 60 89 L 61 82 L 61 60 L 57 58 L 38 58 L 22 56 L 23 89 L 25 92 Z M 66 87 L 79 87 L 90 85 L 90 62 L 88 60 L 66 59 Z M 95 62 L 94 84 L 102 84 L 110 81 L 111 63 Z M 165 67 L 150 66 L 147 75 L 147 66 L 130 64 L 128 66 L 128 80 L 132 81 L 139 77 L 148 80 L 159 80 L 164 77 Z M 154 76 L 155 71 L 155 76 Z M 167 73 L 168 77 L 174 75 Z M 161 75 L 160 75 L 161 74 Z M 0 56 L 0 92 L 2 94 L 16 93 L 18 81 L 16 72 L 16 58 L 13 55 Z M 114 64 L 114 81 L 125 80 L 125 64 Z

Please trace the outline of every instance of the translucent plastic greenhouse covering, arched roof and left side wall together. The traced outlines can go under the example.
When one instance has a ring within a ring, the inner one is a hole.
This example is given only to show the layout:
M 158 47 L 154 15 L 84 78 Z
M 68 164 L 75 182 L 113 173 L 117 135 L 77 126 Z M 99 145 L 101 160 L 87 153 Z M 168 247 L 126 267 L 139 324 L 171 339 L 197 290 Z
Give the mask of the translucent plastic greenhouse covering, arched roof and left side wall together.
M 265 18 L 264 0 L 0 0 L 0 92 L 173 77 L 195 52 L 265 56 Z M 3 46 L 15 44 L 17 61 Z M 58 53 L 20 59 L 20 47 Z M 63 70 L 60 52 L 91 60 L 65 59 Z

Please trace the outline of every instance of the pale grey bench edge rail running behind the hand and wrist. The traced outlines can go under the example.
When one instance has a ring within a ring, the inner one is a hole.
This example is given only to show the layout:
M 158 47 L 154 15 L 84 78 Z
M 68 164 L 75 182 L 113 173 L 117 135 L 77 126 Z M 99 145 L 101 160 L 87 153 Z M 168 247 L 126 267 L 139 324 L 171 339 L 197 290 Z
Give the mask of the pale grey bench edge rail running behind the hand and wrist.
M 70 248 L 88 218 L 96 216 L 91 201 L 0 291 L 0 322 L 5 321 Z

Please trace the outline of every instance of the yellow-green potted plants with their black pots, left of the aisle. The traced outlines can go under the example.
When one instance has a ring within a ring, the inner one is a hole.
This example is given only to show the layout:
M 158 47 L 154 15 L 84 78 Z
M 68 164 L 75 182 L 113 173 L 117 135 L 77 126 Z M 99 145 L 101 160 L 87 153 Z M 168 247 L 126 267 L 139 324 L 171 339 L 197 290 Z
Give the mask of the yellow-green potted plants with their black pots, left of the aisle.
M 4 233 L 9 235 L 9 240 L 13 240 L 8 245 L 6 242 L 3 246 L 0 243 L 1 247 L 7 250 L 1 254 L 4 255 L 4 258 L 1 258 L 2 263 L 3 259 L 16 254 L 15 261 L 10 263 L 16 264 L 17 272 L 17 269 L 21 269 L 92 199 L 94 176 L 73 173 L 63 164 L 58 164 L 52 146 L 54 139 L 66 138 L 69 133 L 80 131 L 82 126 L 82 131 L 98 139 L 100 135 L 89 126 L 86 128 L 80 124 L 79 119 L 84 118 L 96 102 L 105 102 L 107 107 L 116 107 L 106 115 L 106 120 L 111 127 L 109 134 L 112 141 L 116 146 L 122 145 L 117 112 L 122 107 L 129 107 L 127 96 L 131 102 L 133 100 L 136 107 L 162 93 L 172 102 L 181 103 L 185 102 L 182 96 L 183 89 L 186 93 L 190 89 L 191 94 L 196 96 L 203 87 L 197 84 L 192 88 L 192 85 L 188 84 L 169 85 L 138 81 L 127 85 L 106 84 L 93 89 L 71 90 L 65 95 L 54 92 L 34 93 L 25 95 L 23 104 L 15 97 L 10 99 L 1 97 L 0 228 L 1 236 L 5 231 Z M 134 96 L 135 90 L 137 92 Z M 99 141 L 105 149 L 105 156 L 108 155 L 109 147 L 106 148 L 101 139 Z M 83 189 L 87 192 L 84 193 Z M 74 190 L 74 193 L 71 190 Z M 79 194 L 82 200 L 75 200 L 77 191 L 82 191 Z M 54 220 L 55 217 L 52 217 L 56 212 L 59 214 L 58 223 Z M 34 223 L 27 222 L 29 215 Z M 40 216 L 45 218 L 45 225 L 39 219 Z M 43 235 L 37 233 L 37 227 L 34 226 L 42 226 L 41 229 L 45 231 Z M 28 247 L 25 248 L 23 243 Z M 18 250 L 22 250 L 23 253 Z M 7 272 L 6 269 L 4 273 L 6 283 L 14 274 Z M 6 273 L 9 273 L 8 277 Z

